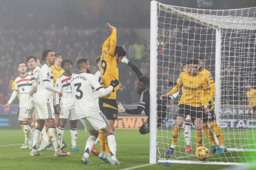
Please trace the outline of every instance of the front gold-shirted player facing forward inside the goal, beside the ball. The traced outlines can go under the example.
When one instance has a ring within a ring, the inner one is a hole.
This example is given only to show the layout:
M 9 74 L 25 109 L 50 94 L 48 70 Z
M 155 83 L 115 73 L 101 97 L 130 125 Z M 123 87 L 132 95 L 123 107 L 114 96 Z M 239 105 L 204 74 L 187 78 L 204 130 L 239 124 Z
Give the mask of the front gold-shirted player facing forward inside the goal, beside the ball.
M 208 90 L 208 79 L 202 73 L 198 73 L 199 60 L 191 59 L 191 71 L 180 73 L 180 79 L 177 85 L 168 92 L 168 95 L 182 90 L 178 106 L 178 116 L 173 128 L 173 140 L 166 156 L 171 156 L 174 152 L 176 142 L 179 137 L 180 128 L 182 127 L 184 117 L 189 115 L 196 126 L 196 144 L 198 148 L 202 144 L 202 94 Z M 208 114 L 208 108 L 204 106 L 205 114 Z

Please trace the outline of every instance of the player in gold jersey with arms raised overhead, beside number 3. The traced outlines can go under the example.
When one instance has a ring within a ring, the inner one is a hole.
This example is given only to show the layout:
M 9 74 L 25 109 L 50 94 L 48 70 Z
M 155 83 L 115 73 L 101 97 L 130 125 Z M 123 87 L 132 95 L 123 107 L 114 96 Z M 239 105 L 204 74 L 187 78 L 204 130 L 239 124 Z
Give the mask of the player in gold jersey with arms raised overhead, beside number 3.
M 108 23 L 111 30 L 111 35 L 104 42 L 102 46 L 101 61 L 101 82 L 103 88 L 108 88 L 112 80 L 119 79 L 118 63 L 122 61 L 122 58 L 126 55 L 126 51 L 121 46 L 116 46 L 117 30 L 115 27 Z M 108 95 L 99 97 L 100 111 L 106 116 L 110 123 L 111 130 L 114 132 L 114 124 L 117 119 L 118 108 L 116 101 L 116 91 L 118 87 L 115 87 Z M 110 152 L 108 147 L 108 139 L 104 132 L 100 131 L 100 150 L 99 158 L 105 162 L 111 163 Z M 106 152 L 106 153 L 105 153 Z

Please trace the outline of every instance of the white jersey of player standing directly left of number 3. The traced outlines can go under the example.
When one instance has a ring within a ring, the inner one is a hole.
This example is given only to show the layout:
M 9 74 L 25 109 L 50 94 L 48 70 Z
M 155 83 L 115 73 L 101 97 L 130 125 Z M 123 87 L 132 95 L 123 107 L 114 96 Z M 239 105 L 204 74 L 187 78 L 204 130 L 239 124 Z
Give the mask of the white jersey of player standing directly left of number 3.
M 75 73 L 72 73 L 72 76 L 74 76 Z M 70 79 L 72 76 L 67 77 L 63 73 L 57 78 L 55 88 L 59 89 L 62 92 L 62 97 L 59 103 L 59 100 L 54 100 L 54 105 L 58 105 L 60 107 L 65 108 L 75 108 L 74 104 L 74 97 L 72 95 L 71 86 L 70 86 Z M 59 94 L 54 93 L 54 99 L 59 99 Z

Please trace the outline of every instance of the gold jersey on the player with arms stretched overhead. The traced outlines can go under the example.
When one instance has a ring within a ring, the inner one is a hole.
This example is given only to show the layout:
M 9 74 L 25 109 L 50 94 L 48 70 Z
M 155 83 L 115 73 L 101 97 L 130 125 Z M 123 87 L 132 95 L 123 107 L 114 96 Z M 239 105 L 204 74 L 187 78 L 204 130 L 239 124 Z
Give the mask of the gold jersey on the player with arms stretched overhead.
M 100 56 L 101 60 L 101 83 L 103 88 L 108 88 L 112 80 L 118 79 L 118 65 L 117 58 L 115 57 L 115 44 L 117 41 L 117 30 L 113 29 L 112 34 L 104 42 L 102 46 L 102 55 Z M 110 47 L 109 47 L 110 45 Z M 109 47 L 109 51 L 108 51 Z M 118 86 L 113 89 L 108 95 L 100 97 L 105 99 L 116 99 L 116 90 Z

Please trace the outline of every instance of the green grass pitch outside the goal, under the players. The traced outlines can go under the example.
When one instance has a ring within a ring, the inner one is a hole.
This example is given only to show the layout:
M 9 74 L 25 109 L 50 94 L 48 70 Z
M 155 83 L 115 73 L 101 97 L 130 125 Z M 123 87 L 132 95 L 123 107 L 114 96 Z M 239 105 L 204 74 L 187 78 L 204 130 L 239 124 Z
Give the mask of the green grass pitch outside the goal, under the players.
M 159 131 L 158 131 L 159 132 Z M 88 132 L 78 130 L 77 146 L 84 150 L 89 137 Z M 83 152 L 71 152 L 68 157 L 55 157 L 53 151 L 42 151 L 41 156 L 30 156 L 30 150 L 21 150 L 24 142 L 24 133 L 19 130 L 0 130 L 0 170 L 118 170 L 149 163 L 149 134 L 141 135 L 138 130 L 115 130 L 117 141 L 117 158 L 124 165 L 112 166 L 104 163 L 93 154 L 90 154 L 93 165 L 81 163 Z M 68 147 L 65 151 L 70 152 L 70 133 L 65 130 L 63 139 Z M 96 146 L 100 151 L 100 144 Z M 217 170 L 228 166 L 224 165 L 180 165 L 171 164 L 164 167 L 163 164 L 139 167 L 140 170 L 156 169 L 207 169 Z

